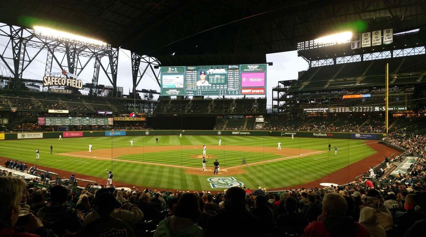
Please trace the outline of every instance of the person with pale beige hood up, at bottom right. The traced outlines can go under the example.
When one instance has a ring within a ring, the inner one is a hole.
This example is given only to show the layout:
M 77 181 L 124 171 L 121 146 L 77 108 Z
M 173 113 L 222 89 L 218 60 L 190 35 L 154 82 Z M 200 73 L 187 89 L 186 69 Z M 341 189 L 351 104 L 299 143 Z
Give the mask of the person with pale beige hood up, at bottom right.
M 386 237 L 386 231 L 379 225 L 377 212 L 373 208 L 366 206 L 361 209 L 360 224 L 367 229 L 370 237 Z

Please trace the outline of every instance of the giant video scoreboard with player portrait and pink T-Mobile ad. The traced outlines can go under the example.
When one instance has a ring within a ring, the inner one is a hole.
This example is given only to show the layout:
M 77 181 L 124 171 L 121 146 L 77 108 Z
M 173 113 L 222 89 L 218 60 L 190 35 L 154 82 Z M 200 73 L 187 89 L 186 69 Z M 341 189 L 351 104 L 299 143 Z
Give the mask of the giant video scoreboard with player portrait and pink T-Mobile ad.
M 265 95 L 266 64 L 161 67 L 161 96 Z

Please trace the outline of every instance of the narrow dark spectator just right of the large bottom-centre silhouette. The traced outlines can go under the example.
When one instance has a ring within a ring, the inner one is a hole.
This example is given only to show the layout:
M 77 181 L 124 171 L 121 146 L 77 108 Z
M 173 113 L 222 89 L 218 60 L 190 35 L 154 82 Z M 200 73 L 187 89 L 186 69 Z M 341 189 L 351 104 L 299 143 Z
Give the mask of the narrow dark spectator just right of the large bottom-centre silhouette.
M 268 232 L 273 228 L 273 213 L 267 203 L 265 195 L 257 195 L 254 208 L 251 210 L 251 214 L 259 219 L 260 229 L 263 232 Z

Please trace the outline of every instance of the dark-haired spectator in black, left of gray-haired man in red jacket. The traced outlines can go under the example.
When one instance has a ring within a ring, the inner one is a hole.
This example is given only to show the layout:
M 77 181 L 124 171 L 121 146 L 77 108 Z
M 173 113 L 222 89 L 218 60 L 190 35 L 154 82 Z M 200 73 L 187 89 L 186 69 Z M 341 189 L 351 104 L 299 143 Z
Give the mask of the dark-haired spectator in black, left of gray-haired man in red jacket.
M 282 232 L 288 234 L 301 234 L 303 229 L 308 226 L 309 220 L 306 213 L 297 212 L 298 202 L 294 197 L 286 198 L 285 202 L 286 214 L 281 214 L 276 218 L 275 225 L 281 229 Z

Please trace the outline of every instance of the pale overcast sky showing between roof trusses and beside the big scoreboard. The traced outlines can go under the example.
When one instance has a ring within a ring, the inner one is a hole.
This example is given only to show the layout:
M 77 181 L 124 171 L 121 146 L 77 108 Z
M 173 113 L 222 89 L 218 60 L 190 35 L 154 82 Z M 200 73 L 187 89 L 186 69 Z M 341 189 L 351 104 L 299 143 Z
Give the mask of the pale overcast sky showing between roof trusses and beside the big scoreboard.
M 8 44 L 8 38 L 0 36 L 0 49 L 1 51 L 6 49 L 6 55 L 9 57 L 12 56 L 12 49 L 10 44 Z M 27 48 L 30 56 L 35 55 L 38 49 Z M 120 49 L 118 54 L 118 79 L 117 86 L 122 86 L 124 90 L 124 94 L 127 94 L 132 90 L 132 63 L 130 59 L 130 51 Z M 62 60 L 63 54 L 55 53 L 55 56 L 58 60 Z M 43 76 L 45 74 L 46 67 L 46 57 L 47 50 L 42 50 L 35 60 L 27 67 L 27 69 L 23 72 L 23 78 L 27 79 L 36 79 L 43 80 Z M 82 64 L 84 64 L 87 58 L 82 59 Z M 1 61 L 1 60 L 0 60 Z M 8 60 L 10 65 L 13 65 L 12 60 Z M 104 66 L 108 64 L 107 57 L 102 58 L 102 63 Z M 278 81 L 280 80 L 293 80 L 297 78 L 298 71 L 302 71 L 308 68 L 308 63 L 303 60 L 301 57 L 297 57 L 296 51 L 289 52 L 280 52 L 275 54 L 267 54 L 266 55 L 267 62 L 273 62 L 273 66 L 268 66 L 267 71 L 267 100 L 268 105 L 272 104 L 272 87 L 278 85 Z M 93 66 L 95 60 L 92 59 L 87 64 L 86 68 L 81 72 L 80 79 L 83 80 L 83 83 L 91 83 L 93 77 Z M 3 63 L 0 62 L 0 68 Z M 66 64 L 66 63 L 65 63 Z M 200 65 L 202 63 L 200 62 Z M 13 67 L 13 66 L 12 66 Z M 143 70 L 145 65 L 140 66 L 141 70 Z M 60 71 L 60 68 L 57 63 L 53 63 L 52 72 Z M 67 70 L 68 71 L 68 70 Z M 156 73 L 158 73 L 158 69 L 155 69 Z M 4 75 L 4 70 L 2 70 L 2 74 Z M 98 84 L 110 85 L 107 76 L 104 74 L 102 69 L 99 73 Z M 147 73 L 142 78 L 139 83 L 137 89 L 154 89 L 160 91 L 160 88 L 155 81 L 155 77 L 151 70 L 147 70 Z M 276 96 L 276 94 L 274 94 Z

